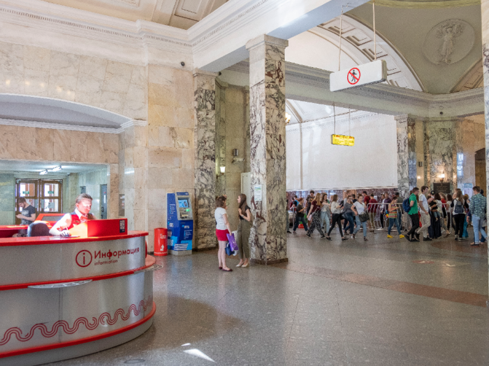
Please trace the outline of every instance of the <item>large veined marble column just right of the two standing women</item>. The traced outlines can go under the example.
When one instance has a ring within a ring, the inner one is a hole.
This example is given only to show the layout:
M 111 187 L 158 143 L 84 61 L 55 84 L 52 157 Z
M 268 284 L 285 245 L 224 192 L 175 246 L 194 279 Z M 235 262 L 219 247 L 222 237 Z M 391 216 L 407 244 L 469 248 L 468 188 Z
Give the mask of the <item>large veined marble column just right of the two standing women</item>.
M 251 212 L 249 244 L 258 264 L 287 261 L 285 47 L 287 40 L 259 36 L 250 40 L 249 124 Z M 255 187 L 261 186 L 261 201 Z

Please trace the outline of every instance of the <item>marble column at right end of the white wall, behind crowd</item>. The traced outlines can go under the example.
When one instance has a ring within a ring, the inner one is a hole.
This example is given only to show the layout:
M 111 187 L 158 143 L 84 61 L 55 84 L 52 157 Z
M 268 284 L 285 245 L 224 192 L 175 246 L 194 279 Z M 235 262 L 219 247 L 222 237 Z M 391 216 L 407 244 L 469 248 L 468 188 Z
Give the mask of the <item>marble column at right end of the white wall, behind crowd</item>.
M 416 187 L 416 119 L 396 116 L 397 122 L 397 190 L 407 197 Z

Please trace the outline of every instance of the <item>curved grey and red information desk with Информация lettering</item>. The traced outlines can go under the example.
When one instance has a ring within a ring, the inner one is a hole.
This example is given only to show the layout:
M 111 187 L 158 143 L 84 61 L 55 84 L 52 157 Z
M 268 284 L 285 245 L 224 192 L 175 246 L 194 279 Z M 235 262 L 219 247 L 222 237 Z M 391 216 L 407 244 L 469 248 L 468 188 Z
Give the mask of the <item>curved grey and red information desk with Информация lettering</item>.
M 0 238 L 0 365 L 40 365 L 122 344 L 156 311 L 144 231 Z

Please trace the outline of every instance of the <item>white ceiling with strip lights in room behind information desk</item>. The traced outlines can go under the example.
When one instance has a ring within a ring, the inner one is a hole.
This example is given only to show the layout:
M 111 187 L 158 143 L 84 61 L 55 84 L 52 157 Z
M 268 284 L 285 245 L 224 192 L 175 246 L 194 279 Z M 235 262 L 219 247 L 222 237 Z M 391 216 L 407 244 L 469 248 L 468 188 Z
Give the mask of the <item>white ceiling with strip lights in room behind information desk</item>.
M 45 162 L 45 161 L 27 161 L 27 160 L 0 160 L 0 171 L 31 171 L 39 172 L 45 169 L 48 171 L 54 167 L 61 165 L 62 170 L 53 172 L 56 175 L 66 175 L 72 173 L 85 173 L 87 171 L 94 171 L 100 169 L 107 169 L 105 164 L 78 164 L 68 162 L 66 164 L 62 162 Z M 40 176 L 41 178 L 43 176 Z

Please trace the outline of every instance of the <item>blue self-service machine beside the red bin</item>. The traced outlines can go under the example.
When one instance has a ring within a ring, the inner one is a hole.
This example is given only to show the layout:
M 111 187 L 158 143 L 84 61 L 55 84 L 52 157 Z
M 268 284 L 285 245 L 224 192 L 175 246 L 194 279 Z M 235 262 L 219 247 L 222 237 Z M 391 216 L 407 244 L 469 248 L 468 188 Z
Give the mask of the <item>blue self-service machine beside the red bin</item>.
M 189 192 L 166 195 L 168 215 L 168 252 L 173 255 L 192 254 L 194 213 Z

